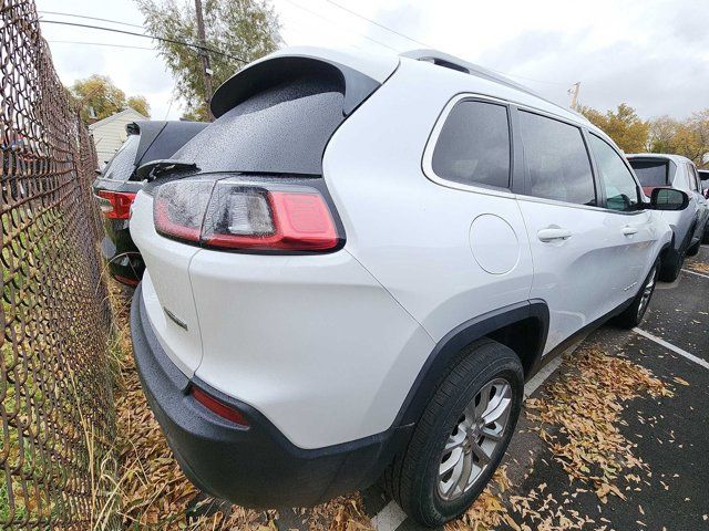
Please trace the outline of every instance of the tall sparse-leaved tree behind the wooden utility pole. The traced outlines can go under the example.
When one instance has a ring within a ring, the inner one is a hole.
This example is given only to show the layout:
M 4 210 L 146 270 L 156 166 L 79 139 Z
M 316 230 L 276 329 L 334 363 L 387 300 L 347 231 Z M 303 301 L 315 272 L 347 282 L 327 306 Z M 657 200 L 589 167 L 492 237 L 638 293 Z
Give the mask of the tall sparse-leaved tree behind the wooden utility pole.
M 191 44 L 199 42 L 193 1 L 135 1 L 150 33 Z M 280 24 L 268 0 L 206 0 L 204 23 L 206 48 L 220 52 L 206 52 L 209 53 L 215 87 L 280 44 Z M 165 41 L 157 41 L 156 45 L 175 77 L 175 95 L 187 103 L 185 115 L 207 119 L 201 51 Z

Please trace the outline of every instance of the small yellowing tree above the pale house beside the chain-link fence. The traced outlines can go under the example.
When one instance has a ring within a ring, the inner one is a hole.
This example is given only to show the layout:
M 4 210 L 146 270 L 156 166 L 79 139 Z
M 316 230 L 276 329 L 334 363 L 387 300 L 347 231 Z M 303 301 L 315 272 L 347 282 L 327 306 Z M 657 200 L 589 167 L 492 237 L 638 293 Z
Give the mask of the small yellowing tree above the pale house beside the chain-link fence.
M 96 118 L 106 118 L 133 104 L 137 105 L 133 108 L 150 117 L 150 105 L 144 96 L 131 96 L 126 101 L 125 93 L 106 75 L 93 74 L 84 80 L 76 80 L 69 87 L 69 94 L 80 106 L 79 112 L 84 124 Z M 91 110 L 93 110 L 93 116 Z

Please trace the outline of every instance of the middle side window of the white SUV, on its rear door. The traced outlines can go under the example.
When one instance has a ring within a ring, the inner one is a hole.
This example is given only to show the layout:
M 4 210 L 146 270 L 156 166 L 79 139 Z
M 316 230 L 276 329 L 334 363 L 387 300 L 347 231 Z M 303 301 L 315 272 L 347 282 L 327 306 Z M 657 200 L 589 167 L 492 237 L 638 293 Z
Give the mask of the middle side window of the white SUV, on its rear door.
M 521 111 L 520 129 L 528 195 L 596 205 L 590 160 L 578 127 Z

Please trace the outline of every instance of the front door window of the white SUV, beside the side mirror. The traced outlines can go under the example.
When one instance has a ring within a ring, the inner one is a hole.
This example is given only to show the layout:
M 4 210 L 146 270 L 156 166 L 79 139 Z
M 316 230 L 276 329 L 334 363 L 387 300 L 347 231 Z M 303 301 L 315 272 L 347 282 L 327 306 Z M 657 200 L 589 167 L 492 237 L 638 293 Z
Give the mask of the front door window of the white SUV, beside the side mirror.
M 606 207 L 620 211 L 637 209 L 638 186 L 620 155 L 596 135 L 590 135 L 590 148 L 606 191 Z

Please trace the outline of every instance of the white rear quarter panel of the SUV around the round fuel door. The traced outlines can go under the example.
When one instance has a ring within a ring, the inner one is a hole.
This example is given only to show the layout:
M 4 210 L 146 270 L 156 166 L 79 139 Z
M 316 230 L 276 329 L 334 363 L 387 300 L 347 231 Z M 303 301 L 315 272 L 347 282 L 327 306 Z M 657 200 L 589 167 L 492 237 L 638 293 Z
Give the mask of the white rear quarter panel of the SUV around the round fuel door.
M 462 92 L 504 96 L 505 87 L 402 59 L 392 77 L 338 129 L 323 158 L 325 179 L 347 231 L 346 249 L 434 341 L 472 317 L 527 300 L 532 283 L 514 196 L 453 189 L 423 173 L 429 136 L 446 103 Z M 502 218 L 516 235 L 517 260 L 504 274 L 485 271 L 473 253 L 496 252 L 490 239 L 471 243 L 473 221 L 487 215 Z

